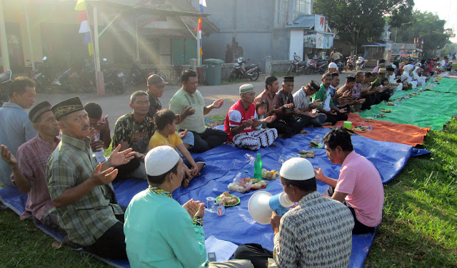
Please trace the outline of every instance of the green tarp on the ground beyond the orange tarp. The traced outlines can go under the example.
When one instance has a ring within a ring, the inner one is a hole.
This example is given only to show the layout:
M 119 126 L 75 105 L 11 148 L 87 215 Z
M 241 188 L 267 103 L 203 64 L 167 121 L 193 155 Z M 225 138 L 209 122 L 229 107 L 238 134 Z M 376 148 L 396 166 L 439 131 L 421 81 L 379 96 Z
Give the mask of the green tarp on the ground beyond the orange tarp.
M 422 87 L 418 87 L 422 88 Z M 426 88 L 425 86 L 423 88 Z M 396 91 L 391 100 L 398 97 L 408 96 L 414 91 Z M 452 93 L 448 93 L 452 92 Z M 382 108 L 392 109 L 391 113 L 384 113 L 385 118 L 375 118 L 392 123 L 411 124 L 421 128 L 431 127 L 432 130 L 442 130 L 443 125 L 457 115 L 457 80 L 443 78 L 440 85 L 432 88 L 431 91 L 418 92 L 419 95 L 412 96 L 403 101 L 393 101 L 396 106 L 379 103 L 372 105 L 370 110 L 360 113 L 362 118 L 373 114 L 383 113 Z

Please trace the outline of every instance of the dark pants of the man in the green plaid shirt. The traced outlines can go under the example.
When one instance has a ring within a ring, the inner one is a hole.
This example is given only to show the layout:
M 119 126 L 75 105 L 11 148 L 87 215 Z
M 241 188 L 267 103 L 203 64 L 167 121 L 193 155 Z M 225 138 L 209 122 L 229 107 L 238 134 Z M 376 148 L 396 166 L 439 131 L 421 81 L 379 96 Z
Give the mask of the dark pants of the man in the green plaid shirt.
M 104 258 L 127 259 L 124 214 L 116 215 L 116 219 L 119 222 L 106 230 L 99 239 L 96 239 L 94 244 L 84 247 L 84 250 Z

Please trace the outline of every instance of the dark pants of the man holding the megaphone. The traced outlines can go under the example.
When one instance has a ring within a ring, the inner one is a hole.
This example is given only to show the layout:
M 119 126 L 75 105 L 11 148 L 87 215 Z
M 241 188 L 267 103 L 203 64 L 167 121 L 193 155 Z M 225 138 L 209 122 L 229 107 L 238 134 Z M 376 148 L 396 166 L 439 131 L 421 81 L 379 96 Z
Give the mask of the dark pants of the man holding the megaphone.
M 254 268 L 267 268 L 268 258 L 273 258 L 273 252 L 260 244 L 242 244 L 233 254 L 233 259 L 250 260 Z

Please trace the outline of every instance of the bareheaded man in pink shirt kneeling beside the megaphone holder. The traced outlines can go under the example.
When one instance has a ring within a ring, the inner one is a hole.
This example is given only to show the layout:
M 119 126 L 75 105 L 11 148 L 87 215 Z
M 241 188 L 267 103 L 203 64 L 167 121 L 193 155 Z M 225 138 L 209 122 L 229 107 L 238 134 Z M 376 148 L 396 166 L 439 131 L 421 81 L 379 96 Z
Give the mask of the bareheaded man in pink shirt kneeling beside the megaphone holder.
M 330 162 L 341 164 L 338 180 L 323 175 L 321 168 L 315 167 L 316 180 L 329 185 L 324 195 L 349 207 L 355 222 L 353 234 L 373 232 L 381 223 L 384 202 L 378 170 L 353 150 L 351 135 L 343 128 L 331 130 L 323 137 L 323 143 Z

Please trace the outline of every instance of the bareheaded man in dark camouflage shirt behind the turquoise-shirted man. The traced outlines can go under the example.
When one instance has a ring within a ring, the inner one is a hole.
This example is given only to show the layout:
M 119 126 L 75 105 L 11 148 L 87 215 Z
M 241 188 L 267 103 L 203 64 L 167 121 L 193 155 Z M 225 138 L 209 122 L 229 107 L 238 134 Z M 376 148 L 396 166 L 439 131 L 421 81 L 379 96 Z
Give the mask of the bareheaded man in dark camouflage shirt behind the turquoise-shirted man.
M 129 177 L 146 180 L 144 155 L 148 152 L 149 140 L 156 130 L 149 113 L 149 96 L 144 91 L 131 94 L 130 108 L 132 113 L 121 116 L 114 125 L 113 146 L 121 145 L 121 150 L 132 148 L 135 158 L 127 165 L 121 165 L 117 179 Z

